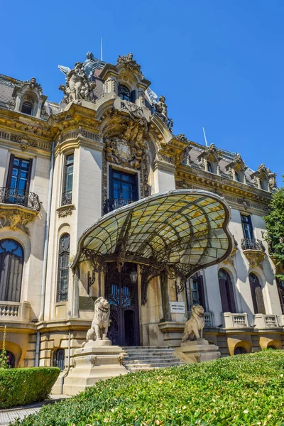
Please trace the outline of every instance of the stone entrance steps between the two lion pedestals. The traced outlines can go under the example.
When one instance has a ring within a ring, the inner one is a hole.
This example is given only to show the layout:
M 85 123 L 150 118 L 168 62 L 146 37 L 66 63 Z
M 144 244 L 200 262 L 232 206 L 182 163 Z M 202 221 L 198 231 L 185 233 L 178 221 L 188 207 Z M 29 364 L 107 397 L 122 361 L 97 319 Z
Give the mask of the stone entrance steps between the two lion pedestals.
M 124 367 L 133 371 L 153 370 L 184 364 L 173 353 L 175 349 L 162 346 L 124 346 Z

